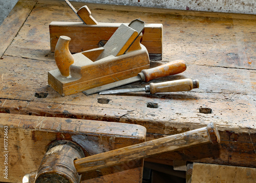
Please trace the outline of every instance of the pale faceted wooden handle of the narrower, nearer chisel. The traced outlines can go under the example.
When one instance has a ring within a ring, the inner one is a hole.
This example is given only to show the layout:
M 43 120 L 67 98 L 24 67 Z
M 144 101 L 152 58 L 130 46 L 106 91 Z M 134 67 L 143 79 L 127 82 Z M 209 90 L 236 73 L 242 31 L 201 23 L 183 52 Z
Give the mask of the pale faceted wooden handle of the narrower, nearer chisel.
M 193 79 L 179 79 L 174 81 L 166 81 L 161 83 L 150 83 L 145 86 L 146 92 L 151 94 L 175 91 L 189 91 L 199 87 L 199 81 Z

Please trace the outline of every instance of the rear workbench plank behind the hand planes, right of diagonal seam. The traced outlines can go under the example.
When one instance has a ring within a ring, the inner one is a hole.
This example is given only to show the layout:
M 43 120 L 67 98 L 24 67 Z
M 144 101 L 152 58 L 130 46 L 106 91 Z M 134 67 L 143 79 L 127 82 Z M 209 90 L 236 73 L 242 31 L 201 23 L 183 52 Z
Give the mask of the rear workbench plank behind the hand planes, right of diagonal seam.
M 48 3 L 47 6 L 42 2 L 36 5 L 6 55 L 54 60 L 49 51 L 50 22 L 80 20 L 65 2 Z M 81 4 L 76 4 L 76 8 L 79 5 Z M 183 59 L 188 64 L 255 70 L 256 20 L 253 18 L 145 13 L 139 7 L 137 11 L 123 12 L 110 7 L 97 8 L 98 6 L 104 5 L 90 4 L 89 8 L 99 22 L 130 22 L 140 17 L 147 24 L 163 24 L 163 60 Z M 41 16 L 42 13 L 45 16 Z

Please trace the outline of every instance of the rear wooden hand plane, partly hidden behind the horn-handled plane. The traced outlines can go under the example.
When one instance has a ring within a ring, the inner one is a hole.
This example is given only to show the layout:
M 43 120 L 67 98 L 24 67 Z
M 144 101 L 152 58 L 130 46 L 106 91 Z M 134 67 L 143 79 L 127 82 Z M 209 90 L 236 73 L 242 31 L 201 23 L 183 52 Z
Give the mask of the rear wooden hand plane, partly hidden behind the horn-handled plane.
M 87 6 L 76 10 L 66 0 L 70 8 L 80 18 L 81 22 L 53 21 L 49 25 L 51 51 L 55 51 L 60 36 L 71 38 L 69 49 L 71 53 L 79 53 L 100 47 L 102 40 L 107 41 L 120 27 L 121 23 L 98 22 Z M 125 24 L 128 25 L 128 24 Z M 145 24 L 142 44 L 146 47 L 151 60 L 162 60 L 162 24 Z

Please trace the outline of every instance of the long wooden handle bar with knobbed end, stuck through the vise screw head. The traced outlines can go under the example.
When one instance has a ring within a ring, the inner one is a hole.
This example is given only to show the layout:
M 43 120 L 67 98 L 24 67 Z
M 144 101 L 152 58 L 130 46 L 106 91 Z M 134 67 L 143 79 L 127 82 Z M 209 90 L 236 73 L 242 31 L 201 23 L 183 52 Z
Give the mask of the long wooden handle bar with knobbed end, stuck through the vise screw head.
M 76 159 L 74 165 L 77 172 L 82 173 L 209 142 L 220 142 L 220 135 L 214 123 L 184 133 Z

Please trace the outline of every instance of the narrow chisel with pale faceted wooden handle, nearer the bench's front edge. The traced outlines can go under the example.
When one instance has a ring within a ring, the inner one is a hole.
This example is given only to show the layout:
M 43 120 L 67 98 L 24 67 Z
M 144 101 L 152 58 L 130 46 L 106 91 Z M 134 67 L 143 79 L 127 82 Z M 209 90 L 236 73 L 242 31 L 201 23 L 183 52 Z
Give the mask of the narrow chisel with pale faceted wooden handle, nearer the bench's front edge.
M 120 94 L 120 93 L 130 93 L 145 91 L 146 93 L 164 93 L 164 92 L 174 92 L 174 91 L 189 91 L 194 88 L 199 87 L 199 81 L 193 79 L 179 79 L 174 81 L 166 81 L 161 83 L 150 83 L 144 88 L 131 88 L 131 89 L 115 89 L 115 90 L 105 90 L 100 91 L 99 95 L 105 94 Z

